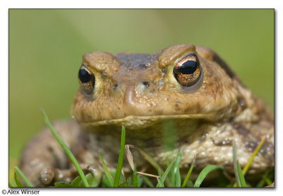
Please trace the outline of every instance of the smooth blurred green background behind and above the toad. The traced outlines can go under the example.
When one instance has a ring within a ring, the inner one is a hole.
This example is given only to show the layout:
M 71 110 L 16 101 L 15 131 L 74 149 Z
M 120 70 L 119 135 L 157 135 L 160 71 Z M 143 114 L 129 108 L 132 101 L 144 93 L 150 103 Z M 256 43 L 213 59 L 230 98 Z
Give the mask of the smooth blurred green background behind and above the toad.
M 273 9 L 10 9 L 10 166 L 44 125 L 40 107 L 50 120 L 70 118 L 82 54 L 176 43 L 215 50 L 273 110 Z

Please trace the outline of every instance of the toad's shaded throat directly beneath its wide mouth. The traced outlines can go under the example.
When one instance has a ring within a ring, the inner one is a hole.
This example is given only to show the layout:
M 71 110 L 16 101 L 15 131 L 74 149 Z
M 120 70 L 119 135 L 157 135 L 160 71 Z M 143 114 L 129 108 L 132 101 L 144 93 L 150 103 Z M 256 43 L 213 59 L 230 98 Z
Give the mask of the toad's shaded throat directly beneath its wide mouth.
M 132 119 L 132 121 L 129 119 Z M 204 130 L 207 129 L 200 129 L 200 127 L 208 124 L 209 122 L 200 118 L 200 116 L 190 118 L 185 115 L 163 117 L 131 116 L 120 120 L 81 123 L 81 127 L 88 130 L 88 132 L 112 135 L 112 137 L 120 139 L 121 127 L 123 125 L 126 129 L 128 141 L 151 141 L 151 143 L 157 144 L 162 142 L 164 137 L 171 137 L 175 142 L 190 140 L 192 137 L 195 138 L 202 135 Z

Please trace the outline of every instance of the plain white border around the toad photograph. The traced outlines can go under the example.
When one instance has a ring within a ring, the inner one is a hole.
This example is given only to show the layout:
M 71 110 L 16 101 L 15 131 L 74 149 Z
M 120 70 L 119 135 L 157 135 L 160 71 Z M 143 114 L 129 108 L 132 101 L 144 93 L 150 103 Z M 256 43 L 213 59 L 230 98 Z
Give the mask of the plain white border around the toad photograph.
M 161 194 L 173 194 L 173 191 L 178 191 L 178 195 L 188 195 L 188 194 L 217 194 L 217 195 L 238 195 L 238 194 L 250 194 L 253 192 L 255 195 L 267 195 L 267 194 L 276 194 L 282 195 L 279 192 L 282 192 L 282 155 L 281 150 L 283 149 L 282 144 L 279 139 L 282 139 L 282 90 L 280 91 L 279 86 L 282 84 L 282 1 L 246 1 L 246 0 L 237 0 L 237 1 L 180 1 L 174 0 L 169 3 L 166 1 L 154 1 L 154 0 L 143 0 L 143 1 L 1 1 L 0 11 L 1 11 L 1 101 L 0 101 L 0 120 L 1 120 L 1 177 L 0 177 L 0 189 L 8 190 L 8 8 L 275 8 L 275 30 L 276 30 L 276 48 L 275 48 L 275 66 L 276 66 L 276 100 L 275 103 L 275 112 L 276 112 L 276 190 L 262 190 L 262 189 L 248 189 L 248 190 L 231 190 L 231 189 L 202 189 L 192 190 L 192 189 L 146 189 L 146 190 L 117 190 L 115 192 L 109 192 L 111 190 L 106 189 L 91 189 L 91 190 L 80 190 L 80 189 L 69 189 L 69 190 L 47 190 L 40 189 L 40 195 L 50 195 L 50 193 L 59 193 L 67 195 L 78 195 L 81 191 L 83 195 L 93 195 L 100 193 L 114 193 L 115 195 L 125 195 L 125 194 L 134 194 L 134 195 L 144 195 L 147 192 L 152 192 L 154 194 L 161 192 Z M 262 24 L 264 25 L 264 24 Z M 281 35 L 281 36 L 280 36 Z M 280 122 L 281 121 L 281 122 Z M 144 192 L 145 191 L 145 192 Z M 158 192 L 156 192 L 158 191 Z M 210 193 L 212 191 L 212 193 Z M 215 192 L 217 191 L 217 193 Z M 241 192 L 239 192 L 241 191 Z

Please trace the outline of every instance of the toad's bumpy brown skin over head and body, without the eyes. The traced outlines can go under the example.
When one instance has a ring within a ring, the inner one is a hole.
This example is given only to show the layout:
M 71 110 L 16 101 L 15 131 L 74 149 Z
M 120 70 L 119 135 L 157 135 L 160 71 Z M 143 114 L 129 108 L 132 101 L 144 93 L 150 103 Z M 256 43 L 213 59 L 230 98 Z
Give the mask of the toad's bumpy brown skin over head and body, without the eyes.
M 192 86 L 182 86 L 173 69 L 188 54 L 197 55 L 202 74 Z M 144 149 L 161 166 L 183 148 L 183 174 L 194 158 L 196 173 L 208 164 L 233 173 L 232 143 L 239 163 L 246 166 L 263 136 L 265 144 L 247 175 L 255 180 L 274 167 L 273 114 L 212 50 L 173 45 L 153 55 L 91 52 L 83 55 L 82 65 L 94 74 L 96 83 L 91 95 L 80 88 L 74 98 L 71 114 L 80 126 L 76 122 L 54 126 L 86 170 L 91 166 L 93 173 L 99 171 L 98 151 L 110 169 L 116 167 L 122 125 L 126 144 Z M 168 126 L 174 128 L 171 149 L 164 144 Z M 136 152 L 134 161 L 138 168 L 149 169 Z M 126 162 L 125 172 L 130 171 Z M 54 179 L 70 181 L 76 175 L 70 165 L 47 129 L 28 144 L 21 161 L 23 172 L 37 186 Z

